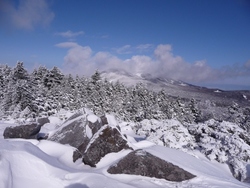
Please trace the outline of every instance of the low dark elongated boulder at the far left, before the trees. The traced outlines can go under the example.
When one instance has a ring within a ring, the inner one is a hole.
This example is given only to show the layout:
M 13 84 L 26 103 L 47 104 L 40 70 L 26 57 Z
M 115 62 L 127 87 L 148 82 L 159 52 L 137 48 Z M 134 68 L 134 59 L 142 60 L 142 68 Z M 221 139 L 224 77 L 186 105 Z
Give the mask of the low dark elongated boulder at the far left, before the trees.
M 40 129 L 41 125 L 39 125 L 38 123 L 19 125 L 15 127 L 6 127 L 3 136 L 5 139 L 6 138 L 36 139 Z

